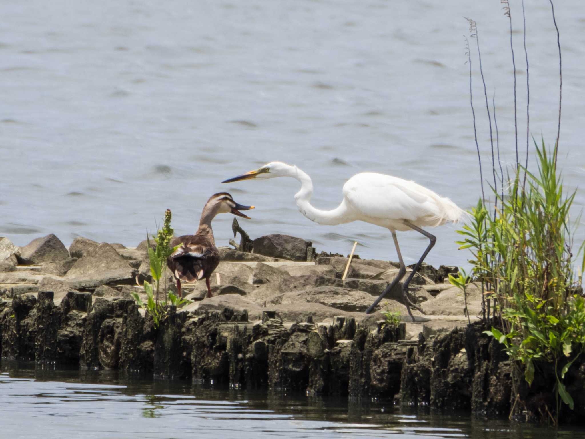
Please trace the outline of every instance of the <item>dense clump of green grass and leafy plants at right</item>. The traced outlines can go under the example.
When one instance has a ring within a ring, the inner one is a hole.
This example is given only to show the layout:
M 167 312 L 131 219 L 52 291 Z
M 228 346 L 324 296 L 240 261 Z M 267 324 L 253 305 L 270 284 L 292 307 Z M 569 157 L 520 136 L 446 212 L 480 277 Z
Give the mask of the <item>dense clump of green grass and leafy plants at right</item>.
M 579 294 L 582 277 L 573 269 L 569 228 L 575 193 L 563 194 L 555 155 L 546 153 L 544 143 L 535 146 L 538 174 L 518 169 L 505 196 L 494 191 L 500 201 L 494 215 L 480 200 L 469 224 L 458 231 L 465 238 L 457 243 L 472 249 L 473 276 L 486 291 L 487 316 L 493 311 L 486 334 L 505 345 L 528 385 L 539 363 L 554 365 L 558 421 L 560 400 L 573 409 L 563 379 L 585 350 L 585 303 Z M 521 172 L 528 177 L 525 189 Z

